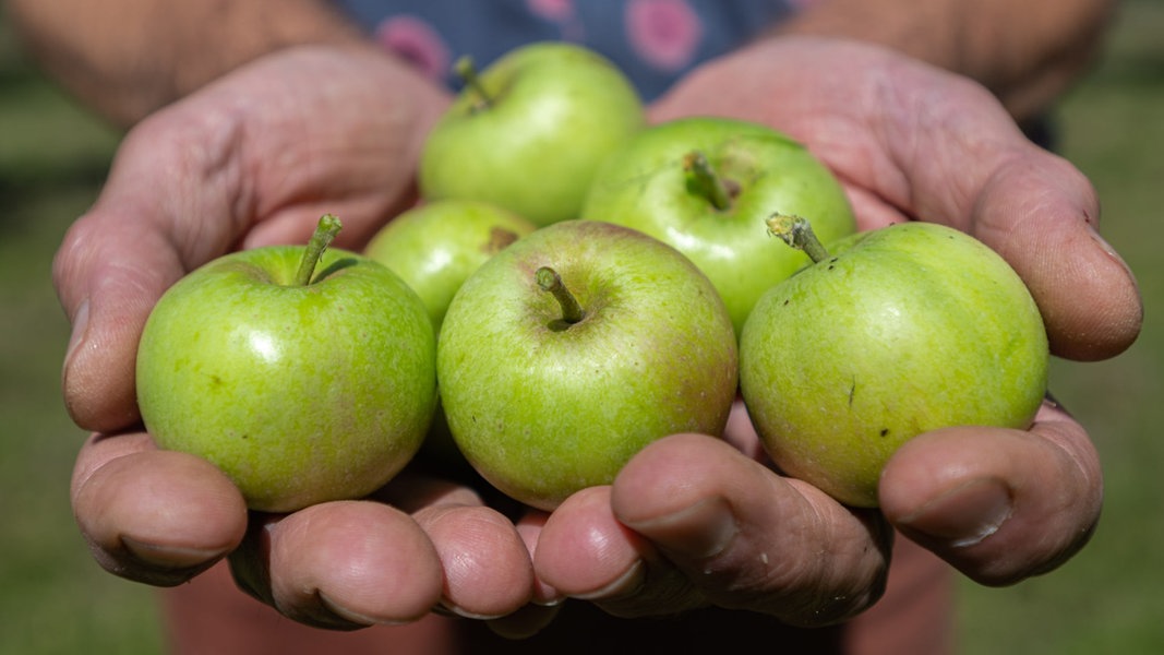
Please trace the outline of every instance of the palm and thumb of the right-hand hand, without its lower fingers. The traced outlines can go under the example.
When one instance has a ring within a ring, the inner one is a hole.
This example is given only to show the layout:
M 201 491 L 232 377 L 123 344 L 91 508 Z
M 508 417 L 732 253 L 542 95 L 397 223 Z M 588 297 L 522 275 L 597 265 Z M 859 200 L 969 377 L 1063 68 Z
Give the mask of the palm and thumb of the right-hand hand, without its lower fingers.
M 1099 360 L 1140 332 L 1127 265 L 1096 232 L 1099 202 L 975 83 L 890 50 L 781 37 L 714 61 L 652 107 L 773 126 L 840 178 L 859 227 L 944 223 L 999 252 L 1030 288 L 1055 354 Z

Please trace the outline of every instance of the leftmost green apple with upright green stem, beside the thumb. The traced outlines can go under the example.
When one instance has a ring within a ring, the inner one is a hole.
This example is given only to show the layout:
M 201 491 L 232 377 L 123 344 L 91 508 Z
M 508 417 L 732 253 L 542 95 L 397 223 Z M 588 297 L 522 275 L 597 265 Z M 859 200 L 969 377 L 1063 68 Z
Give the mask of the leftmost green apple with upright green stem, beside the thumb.
M 435 337 L 396 274 L 311 245 L 223 255 L 175 283 L 137 351 L 137 401 L 158 446 L 204 457 L 251 509 L 360 498 L 420 446 Z

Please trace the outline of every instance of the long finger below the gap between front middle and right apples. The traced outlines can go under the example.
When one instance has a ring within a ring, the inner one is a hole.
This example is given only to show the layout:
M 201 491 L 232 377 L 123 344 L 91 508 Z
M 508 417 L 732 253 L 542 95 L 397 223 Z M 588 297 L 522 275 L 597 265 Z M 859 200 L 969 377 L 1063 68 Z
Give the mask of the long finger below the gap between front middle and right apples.
M 885 589 L 892 534 L 872 513 L 853 514 L 718 439 L 651 444 L 615 480 L 611 506 L 721 607 L 818 626 Z

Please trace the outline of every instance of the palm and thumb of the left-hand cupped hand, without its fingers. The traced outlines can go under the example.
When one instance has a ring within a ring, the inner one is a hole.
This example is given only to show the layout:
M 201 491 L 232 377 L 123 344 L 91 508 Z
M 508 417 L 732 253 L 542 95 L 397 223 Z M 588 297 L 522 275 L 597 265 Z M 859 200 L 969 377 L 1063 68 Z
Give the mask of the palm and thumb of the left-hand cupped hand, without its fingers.
M 55 281 L 70 317 L 119 326 L 74 348 L 65 401 L 84 428 L 135 418 L 136 337 L 154 302 L 235 247 L 306 241 L 325 212 L 355 247 L 411 200 L 420 140 L 443 93 L 374 52 L 288 50 L 154 114 L 126 138 Z M 91 336 L 93 337 L 93 336 Z

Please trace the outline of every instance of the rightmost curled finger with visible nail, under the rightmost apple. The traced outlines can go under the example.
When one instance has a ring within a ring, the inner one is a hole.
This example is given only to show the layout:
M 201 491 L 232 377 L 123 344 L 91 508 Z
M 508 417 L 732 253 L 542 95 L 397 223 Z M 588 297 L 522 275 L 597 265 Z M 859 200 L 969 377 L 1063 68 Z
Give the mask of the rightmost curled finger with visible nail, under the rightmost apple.
M 1084 429 L 1048 403 L 1029 431 L 952 428 L 907 442 L 880 484 L 886 516 L 970 578 L 1055 569 L 1090 538 L 1102 473 Z

